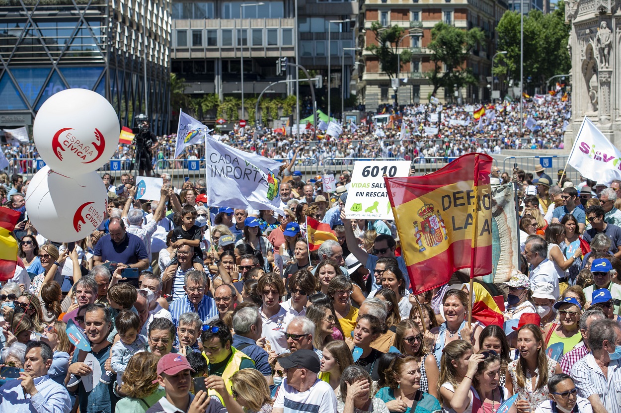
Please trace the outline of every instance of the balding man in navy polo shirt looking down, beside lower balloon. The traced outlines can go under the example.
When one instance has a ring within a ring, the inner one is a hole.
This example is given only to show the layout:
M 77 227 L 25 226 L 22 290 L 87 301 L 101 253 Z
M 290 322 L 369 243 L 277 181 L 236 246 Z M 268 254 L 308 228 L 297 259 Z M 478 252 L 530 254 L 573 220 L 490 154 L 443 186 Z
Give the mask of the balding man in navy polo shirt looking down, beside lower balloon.
M 108 225 L 109 234 L 99 238 L 94 250 L 94 265 L 116 262 L 120 268 L 138 268 L 147 270 L 149 256 L 147 247 L 134 234 L 125 231 L 125 224 L 118 218 L 111 218 Z

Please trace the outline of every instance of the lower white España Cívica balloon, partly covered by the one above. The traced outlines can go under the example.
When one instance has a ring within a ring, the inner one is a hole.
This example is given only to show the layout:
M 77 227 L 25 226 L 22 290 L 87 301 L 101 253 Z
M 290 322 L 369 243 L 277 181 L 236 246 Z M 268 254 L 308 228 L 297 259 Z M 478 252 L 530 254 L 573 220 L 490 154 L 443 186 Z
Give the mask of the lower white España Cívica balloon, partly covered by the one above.
M 43 237 L 73 242 L 88 237 L 104 220 L 106 186 L 96 172 L 72 178 L 44 166 L 26 193 L 28 219 Z

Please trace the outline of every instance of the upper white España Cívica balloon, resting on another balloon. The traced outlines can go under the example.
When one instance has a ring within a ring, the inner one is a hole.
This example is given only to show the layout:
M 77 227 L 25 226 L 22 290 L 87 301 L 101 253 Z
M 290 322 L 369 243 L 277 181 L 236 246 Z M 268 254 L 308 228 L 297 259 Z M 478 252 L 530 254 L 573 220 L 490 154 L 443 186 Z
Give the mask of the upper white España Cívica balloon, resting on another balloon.
M 119 145 L 119 118 L 101 94 L 66 89 L 39 109 L 32 127 L 37 151 L 53 171 L 80 175 L 96 171 Z

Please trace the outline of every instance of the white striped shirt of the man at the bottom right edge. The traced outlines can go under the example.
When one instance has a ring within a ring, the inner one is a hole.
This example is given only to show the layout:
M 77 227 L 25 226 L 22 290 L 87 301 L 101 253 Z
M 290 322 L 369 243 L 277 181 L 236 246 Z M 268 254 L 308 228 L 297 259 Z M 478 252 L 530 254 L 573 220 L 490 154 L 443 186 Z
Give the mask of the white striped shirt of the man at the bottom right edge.
M 609 413 L 621 413 L 621 360 L 608 363 L 608 377 L 604 376 L 592 353 L 587 354 L 571 368 L 578 396 L 589 398 L 594 394 Z

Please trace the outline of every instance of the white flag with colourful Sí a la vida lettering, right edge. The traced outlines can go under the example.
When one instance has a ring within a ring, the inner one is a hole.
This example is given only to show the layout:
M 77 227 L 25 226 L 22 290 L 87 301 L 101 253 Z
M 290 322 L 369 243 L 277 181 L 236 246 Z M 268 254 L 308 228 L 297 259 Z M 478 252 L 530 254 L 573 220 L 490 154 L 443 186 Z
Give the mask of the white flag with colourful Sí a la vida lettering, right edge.
M 568 164 L 584 178 L 606 186 L 614 179 L 621 179 L 621 152 L 586 116 L 571 148 Z

